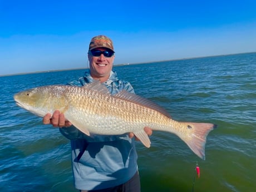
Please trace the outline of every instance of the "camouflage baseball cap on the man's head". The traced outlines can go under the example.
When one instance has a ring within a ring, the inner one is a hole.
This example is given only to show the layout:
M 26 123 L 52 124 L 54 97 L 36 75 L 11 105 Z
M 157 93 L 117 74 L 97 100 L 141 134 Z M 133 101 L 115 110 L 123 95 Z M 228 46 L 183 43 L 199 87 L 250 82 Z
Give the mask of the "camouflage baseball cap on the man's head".
M 91 39 L 89 51 L 99 47 L 109 48 L 110 50 L 114 51 L 112 40 L 104 35 L 95 36 Z

